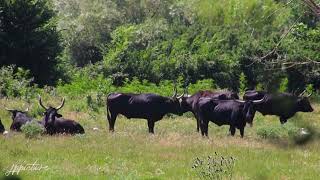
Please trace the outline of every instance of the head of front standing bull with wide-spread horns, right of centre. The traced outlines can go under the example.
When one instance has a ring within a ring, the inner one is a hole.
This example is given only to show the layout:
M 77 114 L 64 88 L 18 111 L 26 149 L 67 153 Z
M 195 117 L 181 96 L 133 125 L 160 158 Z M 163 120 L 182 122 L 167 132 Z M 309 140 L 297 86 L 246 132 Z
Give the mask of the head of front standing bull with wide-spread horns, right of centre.
M 242 101 L 242 100 L 235 99 L 235 101 L 243 104 L 242 114 L 244 116 L 246 123 L 249 123 L 250 126 L 252 126 L 253 124 L 253 119 L 256 112 L 255 105 L 263 103 L 265 99 L 266 99 L 266 96 L 264 96 L 260 100 L 253 100 L 253 101 L 252 100 Z

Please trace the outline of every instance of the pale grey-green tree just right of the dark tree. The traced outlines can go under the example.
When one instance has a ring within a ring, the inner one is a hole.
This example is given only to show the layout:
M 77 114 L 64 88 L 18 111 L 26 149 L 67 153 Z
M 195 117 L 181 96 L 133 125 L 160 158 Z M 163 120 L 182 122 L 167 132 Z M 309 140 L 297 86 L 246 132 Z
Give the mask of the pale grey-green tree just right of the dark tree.
M 111 0 L 53 0 L 62 30 L 65 59 L 84 67 L 102 60 L 101 47 L 124 18 Z

